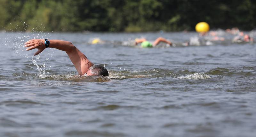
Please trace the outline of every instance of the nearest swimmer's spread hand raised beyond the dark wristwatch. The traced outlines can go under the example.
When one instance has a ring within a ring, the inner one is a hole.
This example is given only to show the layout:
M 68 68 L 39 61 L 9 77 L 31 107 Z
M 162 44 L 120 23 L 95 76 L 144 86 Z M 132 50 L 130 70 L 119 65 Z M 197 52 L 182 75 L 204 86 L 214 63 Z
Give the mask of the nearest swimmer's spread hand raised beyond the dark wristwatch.
M 34 54 L 34 56 L 36 56 L 46 48 L 44 41 L 45 41 L 44 39 L 32 39 L 32 40 L 29 40 L 28 42 L 25 42 L 24 47 L 29 47 L 28 49 L 26 49 L 27 51 L 31 49 L 38 49 Z

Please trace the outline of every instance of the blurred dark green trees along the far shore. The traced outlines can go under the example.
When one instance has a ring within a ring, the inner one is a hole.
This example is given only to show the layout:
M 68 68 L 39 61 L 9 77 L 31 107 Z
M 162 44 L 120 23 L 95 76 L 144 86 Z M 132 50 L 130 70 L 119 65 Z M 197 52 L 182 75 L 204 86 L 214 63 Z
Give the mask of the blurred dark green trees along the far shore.
M 255 0 L 0 0 L 6 31 L 182 31 L 256 27 Z

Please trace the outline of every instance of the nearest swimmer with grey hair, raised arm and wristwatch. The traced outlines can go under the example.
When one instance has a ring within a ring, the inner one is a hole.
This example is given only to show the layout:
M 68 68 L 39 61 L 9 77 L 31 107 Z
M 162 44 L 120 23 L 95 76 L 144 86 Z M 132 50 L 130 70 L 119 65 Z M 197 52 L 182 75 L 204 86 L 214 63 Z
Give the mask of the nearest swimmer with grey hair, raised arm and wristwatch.
M 62 40 L 32 39 L 25 42 L 26 50 L 38 49 L 34 56 L 41 53 L 46 48 L 55 48 L 66 51 L 71 62 L 76 67 L 79 75 L 87 76 L 108 76 L 108 70 L 100 65 L 94 65 L 79 49 L 71 42 Z

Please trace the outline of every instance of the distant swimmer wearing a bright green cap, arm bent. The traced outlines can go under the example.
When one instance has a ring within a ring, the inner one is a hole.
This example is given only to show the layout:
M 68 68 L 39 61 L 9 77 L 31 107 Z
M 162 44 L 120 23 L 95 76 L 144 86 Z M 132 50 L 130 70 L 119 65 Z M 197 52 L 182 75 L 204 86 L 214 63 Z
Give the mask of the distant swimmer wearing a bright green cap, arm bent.
M 172 42 L 159 37 L 155 40 L 155 42 L 152 44 L 149 41 L 147 41 L 146 39 L 142 38 L 142 39 L 135 39 L 135 45 L 138 45 L 139 43 L 141 43 L 141 47 L 142 48 L 150 48 L 150 47 L 155 47 L 157 44 L 159 44 L 160 42 L 164 42 L 169 44 L 170 46 L 172 46 Z

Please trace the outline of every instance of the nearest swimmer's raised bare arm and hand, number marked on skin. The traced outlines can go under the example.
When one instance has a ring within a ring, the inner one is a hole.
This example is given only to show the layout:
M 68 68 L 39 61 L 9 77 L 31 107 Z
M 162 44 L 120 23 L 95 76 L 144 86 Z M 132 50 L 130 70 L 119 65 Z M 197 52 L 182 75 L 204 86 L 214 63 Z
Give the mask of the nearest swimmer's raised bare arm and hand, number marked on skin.
M 28 50 L 38 49 L 34 56 L 41 53 L 46 47 L 44 44 L 44 39 L 32 39 L 25 43 L 24 47 L 29 47 Z M 75 65 L 76 70 L 79 75 L 85 74 L 88 69 L 93 65 L 92 62 L 71 42 L 62 41 L 62 40 L 49 40 L 49 48 L 60 49 L 66 51 L 71 62 Z

